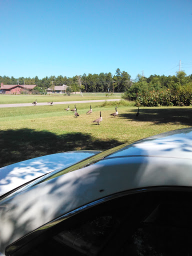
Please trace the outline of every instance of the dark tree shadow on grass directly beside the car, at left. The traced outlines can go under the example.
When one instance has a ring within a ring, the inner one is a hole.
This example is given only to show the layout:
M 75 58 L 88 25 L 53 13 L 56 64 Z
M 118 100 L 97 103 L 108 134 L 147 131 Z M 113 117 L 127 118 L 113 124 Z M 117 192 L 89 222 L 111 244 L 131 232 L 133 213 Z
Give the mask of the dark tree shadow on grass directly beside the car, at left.
M 64 151 L 106 150 L 122 143 L 115 139 L 101 140 L 81 132 L 56 135 L 28 128 L 0 130 L 0 167 Z

